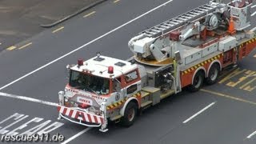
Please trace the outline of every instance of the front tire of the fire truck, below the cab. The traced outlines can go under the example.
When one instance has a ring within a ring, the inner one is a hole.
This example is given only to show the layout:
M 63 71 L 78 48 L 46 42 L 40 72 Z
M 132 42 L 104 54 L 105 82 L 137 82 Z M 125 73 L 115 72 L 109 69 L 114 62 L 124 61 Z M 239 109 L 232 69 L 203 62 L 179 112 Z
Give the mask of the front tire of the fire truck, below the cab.
M 137 118 L 138 106 L 135 102 L 129 102 L 126 106 L 125 114 L 121 118 L 122 126 L 132 126 Z

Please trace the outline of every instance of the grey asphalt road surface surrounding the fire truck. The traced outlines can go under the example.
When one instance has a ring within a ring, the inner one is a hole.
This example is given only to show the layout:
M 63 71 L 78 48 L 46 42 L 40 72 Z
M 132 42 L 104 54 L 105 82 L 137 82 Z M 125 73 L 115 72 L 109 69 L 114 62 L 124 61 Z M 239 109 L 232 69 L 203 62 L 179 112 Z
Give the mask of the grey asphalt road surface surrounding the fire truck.
M 57 120 L 55 105 L 58 90 L 63 90 L 66 84 L 66 64 L 76 63 L 78 58 L 90 58 L 97 51 L 115 58 L 130 58 L 127 42 L 138 32 L 207 1 L 194 0 L 185 6 L 187 1 L 174 0 L 138 18 L 164 2 L 167 0 L 105 2 L 15 45 L 14 50 L 2 51 L 0 91 L 14 94 L 9 97 L 21 95 L 48 102 L 6 98 L 7 95 L 0 93 L 2 129 L 7 126 L 6 133 L 13 130 L 22 134 L 46 122 L 45 127 L 50 126 L 47 130 L 51 135 L 63 134 L 70 143 L 255 143 L 256 136 L 250 134 L 256 130 L 256 80 L 243 78 L 256 71 L 255 51 L 239 63 L 238 70 L 220 79 L 219 83 L 204 86 L 197 93 L 185 91 L 165 99 L 144 111 L 130 128 L 112 124 L 103 134 L 98 128 L 89 130 L 86 126 Z M 116 29 L 118 26 L 122 27 Z M 114 31 L 108 33 L 110 30 Z M 74 53 L 68 54 L 72 50 Z M 20 116 L 20 122 L 10 117 L 15 113 L 18 114 L 14 116 Z M 196 116 L 191 118 L 194 114 Z M 3 122 L 6 118 L 10 119 Z M 12 122 L 17 123 L 10 126 Z M 0 134 L 3 134 L 1 129 Z

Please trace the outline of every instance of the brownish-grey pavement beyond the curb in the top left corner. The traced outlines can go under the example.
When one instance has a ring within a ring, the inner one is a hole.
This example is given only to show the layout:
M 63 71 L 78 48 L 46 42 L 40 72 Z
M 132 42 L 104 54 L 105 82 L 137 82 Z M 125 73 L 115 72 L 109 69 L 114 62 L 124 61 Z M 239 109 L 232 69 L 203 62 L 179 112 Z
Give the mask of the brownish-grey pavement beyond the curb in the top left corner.
M 0 1 L 0 51 L 40 33 L 42 24 L 56 22 L 97 0 Z

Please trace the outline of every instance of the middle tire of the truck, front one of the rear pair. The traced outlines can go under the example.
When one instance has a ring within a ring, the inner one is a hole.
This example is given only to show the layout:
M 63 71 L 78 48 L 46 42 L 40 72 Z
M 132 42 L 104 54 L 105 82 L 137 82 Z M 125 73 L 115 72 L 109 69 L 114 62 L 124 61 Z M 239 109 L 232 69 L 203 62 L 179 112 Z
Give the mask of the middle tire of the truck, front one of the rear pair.
M 204 73 L 202 72 L 202 70 L 199 70 L 197 74 L 194 75 L 193 83 L 188 87 L 188 90 L 190 92 L 195 92 L 200 90 L 203 84 L 203 80 L 204 80 Z

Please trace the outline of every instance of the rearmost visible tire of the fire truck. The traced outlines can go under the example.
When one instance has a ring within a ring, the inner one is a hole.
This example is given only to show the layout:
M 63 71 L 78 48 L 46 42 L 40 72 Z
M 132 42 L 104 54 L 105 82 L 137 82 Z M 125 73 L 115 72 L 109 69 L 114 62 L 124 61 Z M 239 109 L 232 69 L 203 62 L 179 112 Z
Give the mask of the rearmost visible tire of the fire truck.
M 206 78 L 206 83 L 212 85 L 218 80 L 218 75 L 220 72 L 220 67 L 217 63 L 214 63 L 209 70 L 208 77 Z

